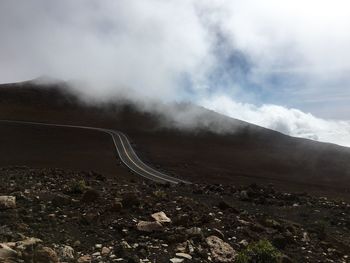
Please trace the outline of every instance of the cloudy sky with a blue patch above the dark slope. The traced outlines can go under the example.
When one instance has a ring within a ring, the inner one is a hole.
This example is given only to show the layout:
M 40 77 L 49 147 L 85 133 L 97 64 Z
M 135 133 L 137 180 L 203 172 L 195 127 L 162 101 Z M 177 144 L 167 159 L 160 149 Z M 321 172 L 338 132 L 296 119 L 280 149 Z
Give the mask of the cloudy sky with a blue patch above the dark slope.
M 190 101 L 350 146 L 350 2 L 2 0 L 0 83 Z

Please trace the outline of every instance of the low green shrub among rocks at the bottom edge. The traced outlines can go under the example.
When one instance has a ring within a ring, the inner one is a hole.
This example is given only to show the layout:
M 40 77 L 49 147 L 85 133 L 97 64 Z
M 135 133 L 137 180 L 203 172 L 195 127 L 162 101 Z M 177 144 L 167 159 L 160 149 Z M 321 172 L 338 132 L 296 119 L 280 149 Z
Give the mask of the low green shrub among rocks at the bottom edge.
M 277 263 L 281 253 L 267 240 L 250 244 L 237 256 L 237 263 Z

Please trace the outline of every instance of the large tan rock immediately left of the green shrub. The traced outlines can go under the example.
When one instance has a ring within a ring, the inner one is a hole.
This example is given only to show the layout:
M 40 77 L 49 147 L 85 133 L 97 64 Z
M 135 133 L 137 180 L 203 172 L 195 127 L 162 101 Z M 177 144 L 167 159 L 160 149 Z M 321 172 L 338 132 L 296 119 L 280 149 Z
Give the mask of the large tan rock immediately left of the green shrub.
M 207 237 L 206 242 L 215 262 L 233 262 L 236 258 L 236 251 L 217 236 Z

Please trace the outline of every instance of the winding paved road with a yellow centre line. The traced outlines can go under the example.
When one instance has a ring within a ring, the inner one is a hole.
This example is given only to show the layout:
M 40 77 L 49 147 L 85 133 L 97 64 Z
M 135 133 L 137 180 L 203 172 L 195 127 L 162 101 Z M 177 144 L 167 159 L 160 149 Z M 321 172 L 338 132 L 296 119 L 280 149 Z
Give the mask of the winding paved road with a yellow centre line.
M 76 129 L 95 130 L 95 131 L 104 132 L 109 134 L 112 137 L 114 146 L 118 152 L 120 160 L 135 174 L 140 175 L 149 180 L 155 181 L 157 183 L 172 183 L 172 184 L 178 184 L 178 183 L 189 184 L 190 183 L 190 182 L 166 175 L 146 165 L 136 155 L 126 135 L 120 131 L 96 128 L 96 127 L 88 127 L 88 126 L 50 124 L 50 123 L 31 122 L 31 121 L 0 120 L 0 123 L 65 127 L 65 128 L 76 128 Z

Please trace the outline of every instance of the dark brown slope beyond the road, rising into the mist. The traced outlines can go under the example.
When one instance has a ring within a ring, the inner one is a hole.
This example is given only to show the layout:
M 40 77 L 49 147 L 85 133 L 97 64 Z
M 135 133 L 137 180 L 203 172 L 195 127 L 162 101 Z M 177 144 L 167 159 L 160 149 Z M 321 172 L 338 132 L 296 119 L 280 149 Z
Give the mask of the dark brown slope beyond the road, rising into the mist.
M 194 105 L 187 107 L 212 117 L 207 127 L 213 130 L 220 123 L 225 132 L 182 131 L 159 113 L 141 112 L 129 103 L 84 105 L 65 89 L 31 82 L 0 85 L 0 119 L 118 129 L 135 143 L 143 160 L 195 182 L 256 181 L 291 190 L 349 194 L 350 148 L 293 138 Z M 6 152 L 0 149 L 0 166 L 3 155 Z

